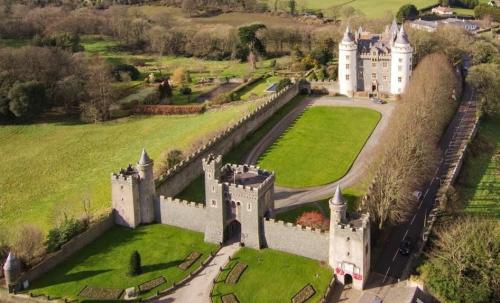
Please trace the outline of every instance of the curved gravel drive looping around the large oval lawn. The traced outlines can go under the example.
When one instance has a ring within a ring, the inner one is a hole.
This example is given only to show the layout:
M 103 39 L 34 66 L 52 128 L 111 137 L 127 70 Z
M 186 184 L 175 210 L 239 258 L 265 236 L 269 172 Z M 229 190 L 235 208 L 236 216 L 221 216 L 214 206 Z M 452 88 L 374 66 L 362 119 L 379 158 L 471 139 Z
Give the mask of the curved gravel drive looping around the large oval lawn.
M 308 97 L 294 110 L 281 119 L 261 140 L 255 145 L 245 158 L 245 163 L 256 164 L 259 156 L 266 151 L 293 123 L 297 117 L 309 106 L 349 106 L 364 107 L 376 110 L 381 113 L 381 118 L 375 130 L 366 141 L 363 149 L 358 154 L 347 174 L 340 180 L 333 183 L 308 188 L 285 188 L 275 187 L 274 199 L 277 211 L 283 211 L 297 204 L 314 202 L 332 195 L 337 187 L 354 185 L 360 177 L 366 172 L 367 166 L 373 158 L 373 151 L 378 141 L 389 124 L 389 118 L 394 110 L 393 103 L 374 104 L 368 99 L 349 99 L 346 97 Z

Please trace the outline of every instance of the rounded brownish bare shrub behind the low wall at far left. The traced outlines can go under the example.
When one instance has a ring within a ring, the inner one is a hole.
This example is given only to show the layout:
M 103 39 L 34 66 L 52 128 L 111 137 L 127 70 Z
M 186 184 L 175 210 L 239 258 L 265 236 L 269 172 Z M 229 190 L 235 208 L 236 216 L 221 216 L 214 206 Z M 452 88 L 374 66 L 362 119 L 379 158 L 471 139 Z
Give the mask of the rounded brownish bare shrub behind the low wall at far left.
M 32 266 L 44 252 L 42 231 L 32 225 L 21 227 L 13 250 L 25 265 Z

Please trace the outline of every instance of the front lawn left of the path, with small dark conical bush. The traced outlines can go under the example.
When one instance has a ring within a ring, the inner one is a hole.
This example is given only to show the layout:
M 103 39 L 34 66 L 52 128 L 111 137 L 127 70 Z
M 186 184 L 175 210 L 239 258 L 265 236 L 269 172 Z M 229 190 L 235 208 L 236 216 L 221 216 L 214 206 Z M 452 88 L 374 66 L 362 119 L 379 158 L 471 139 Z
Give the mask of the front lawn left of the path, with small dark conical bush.
M 170 287 L 200 266 L 217 246 L 205 243 L 203 234 L 168 225 L 144 225 L 137 229 L 113 227 L 71 259 L 32 283 L 30 291 L 52 297 L 80 299 L 86 286 L 128 288 L 163 276 L 167 282 L 143 295 Z M 143 273 L 127 274 L 131 253 L 141 255 Z M 203 255 L 188 270 L 177 267 L 191 252 Z

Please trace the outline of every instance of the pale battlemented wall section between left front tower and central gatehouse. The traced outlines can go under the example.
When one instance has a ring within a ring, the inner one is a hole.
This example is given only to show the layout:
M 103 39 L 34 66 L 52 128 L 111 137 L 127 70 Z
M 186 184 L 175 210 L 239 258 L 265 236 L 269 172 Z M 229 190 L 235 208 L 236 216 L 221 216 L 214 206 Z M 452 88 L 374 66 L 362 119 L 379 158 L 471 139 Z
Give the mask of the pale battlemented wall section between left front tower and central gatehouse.
M 199 203 L 160 196 L 160 222 L 162 224 L 205 232 L 205 206 Z

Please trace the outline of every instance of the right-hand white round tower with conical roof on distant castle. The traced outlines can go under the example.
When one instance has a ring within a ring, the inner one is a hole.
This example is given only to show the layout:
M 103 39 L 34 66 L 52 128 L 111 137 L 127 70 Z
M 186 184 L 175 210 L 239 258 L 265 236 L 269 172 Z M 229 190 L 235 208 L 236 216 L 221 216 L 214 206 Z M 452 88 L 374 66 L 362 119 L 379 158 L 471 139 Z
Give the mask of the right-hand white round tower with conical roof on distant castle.
M 399 95 L 405 91 L 410 81 L 412 70 L 413 49 L 408 41 L 408 36 L 401 25 L 391 47 L 391 94 Z

